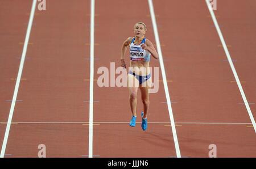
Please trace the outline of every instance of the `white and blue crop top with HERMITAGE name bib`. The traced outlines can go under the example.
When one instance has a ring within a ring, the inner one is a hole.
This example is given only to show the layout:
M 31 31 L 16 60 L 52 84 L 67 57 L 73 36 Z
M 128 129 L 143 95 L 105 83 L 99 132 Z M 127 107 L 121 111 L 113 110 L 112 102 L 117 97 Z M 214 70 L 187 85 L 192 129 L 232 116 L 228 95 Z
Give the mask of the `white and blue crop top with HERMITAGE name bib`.
M 144 38 L 139 45 L 134 44 L 135 37 L 131 40 L 130 44 L 130 59 L 131 61 L 150 61 L 150 52 L 141 48 L 141 45 L 146 42 Z

